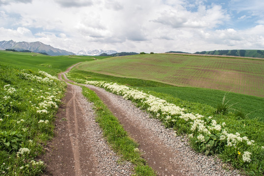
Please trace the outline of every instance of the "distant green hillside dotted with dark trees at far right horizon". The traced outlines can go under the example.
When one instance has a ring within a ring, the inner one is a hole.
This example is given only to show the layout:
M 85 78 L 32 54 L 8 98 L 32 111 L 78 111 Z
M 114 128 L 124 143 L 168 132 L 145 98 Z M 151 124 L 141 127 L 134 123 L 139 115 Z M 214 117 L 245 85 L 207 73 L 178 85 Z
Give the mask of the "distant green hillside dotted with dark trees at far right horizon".
M 255 50 L 253 49 L 214 50 L 214 51 L 201 51 L 201 52 L 198 51 L 194 54 L 264 58 L 264 50 L 256 50 L 256 49 Z

